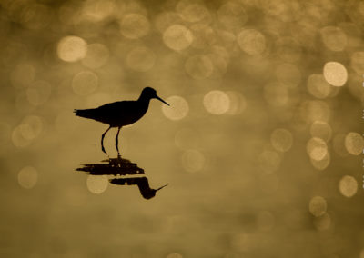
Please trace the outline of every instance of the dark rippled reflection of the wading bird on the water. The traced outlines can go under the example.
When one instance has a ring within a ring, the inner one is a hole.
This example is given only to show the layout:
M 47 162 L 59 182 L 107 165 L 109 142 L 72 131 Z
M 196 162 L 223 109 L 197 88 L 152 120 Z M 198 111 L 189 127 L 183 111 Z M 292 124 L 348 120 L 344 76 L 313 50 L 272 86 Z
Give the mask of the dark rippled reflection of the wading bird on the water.
M 151 199 L 156 196 L 158 190 L 167 186 L 167 184 L 157 188 L 152 189 L 149 186 L 147 176 L 137 176 L 137 177 L 116 177 L 116 176 L 126 176 L 126 175 L 139 175 L 145 174 L 144 169 L 137 166 L 137 164 L 122 158 L 120 155 L 117 158 L 110 158 L 108 160 L 103 160 L 99 164 L 83 164 L 81 167 L 76 168 L 76 171 L 84 171 L 86 174 L 92 175 L 109 175 L 115 176 L 110 178 L 111 184 L 118 185 L 137 185 L 140 193 L 145 199 Z

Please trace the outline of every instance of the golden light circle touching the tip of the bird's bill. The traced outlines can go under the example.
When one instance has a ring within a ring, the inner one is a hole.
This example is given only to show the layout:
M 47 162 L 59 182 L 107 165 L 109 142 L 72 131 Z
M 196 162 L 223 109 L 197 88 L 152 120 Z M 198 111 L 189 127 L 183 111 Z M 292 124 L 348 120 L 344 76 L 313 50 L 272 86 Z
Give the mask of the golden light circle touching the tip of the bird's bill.
M 162 105 L 162 111 L 167 118 L 171 120 L 180 120 L 188 114 L 188 103 L 183 97 L 170 96 L 166 101 L 170 106 Z

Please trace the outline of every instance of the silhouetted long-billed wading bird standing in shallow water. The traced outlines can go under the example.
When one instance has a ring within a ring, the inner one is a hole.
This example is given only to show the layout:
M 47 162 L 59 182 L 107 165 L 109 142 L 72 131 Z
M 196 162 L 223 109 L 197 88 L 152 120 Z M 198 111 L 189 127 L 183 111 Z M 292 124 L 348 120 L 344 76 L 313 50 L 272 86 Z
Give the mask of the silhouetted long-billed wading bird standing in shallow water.
M 157 91 L 151 87 L 142 90 L 139 98 L 134 101 L 118 101 L 114 103 L 104 104 L 91 109 L 75 109 L 76 116 L 93 119 L 97 122 L 108 124 L 109 127 L 101 136 L 101 150 L 107 155 L 104 148 L 104 138 L 106 133 L 113 127 L 117 127 L 116 134 L 116 151 L 120 156 L 118 148 L 118 136 L 120 129 L 129 124 L 134 124 L 147 113 L 149 102 L 151 99 L 157 99 L 164 104 L 166 101 L 157 95 Z M 167 104 L 169 105 L 169 104 Z

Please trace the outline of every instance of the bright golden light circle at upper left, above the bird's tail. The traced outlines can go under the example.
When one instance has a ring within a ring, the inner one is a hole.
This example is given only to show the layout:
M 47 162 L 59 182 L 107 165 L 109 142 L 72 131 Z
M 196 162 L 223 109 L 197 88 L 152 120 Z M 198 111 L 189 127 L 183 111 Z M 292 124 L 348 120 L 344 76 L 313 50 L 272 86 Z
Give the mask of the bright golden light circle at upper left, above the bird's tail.
M 67 35 L 58 42 L 57 55 L 66 62 L 76 62 L 86 56 L 86 41 L 75 35 Z

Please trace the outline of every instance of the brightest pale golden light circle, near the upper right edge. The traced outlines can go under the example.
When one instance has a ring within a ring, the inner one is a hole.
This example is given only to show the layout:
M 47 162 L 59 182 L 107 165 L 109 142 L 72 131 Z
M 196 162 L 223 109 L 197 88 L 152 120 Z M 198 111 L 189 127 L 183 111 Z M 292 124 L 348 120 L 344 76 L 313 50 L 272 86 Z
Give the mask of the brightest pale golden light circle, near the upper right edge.
M 342 86 L 348 81 L 348 71 L 338 62 L 328 62 L 323 71 L 326 81 L 333 86 Z

